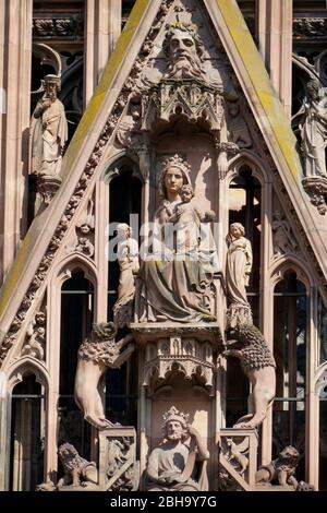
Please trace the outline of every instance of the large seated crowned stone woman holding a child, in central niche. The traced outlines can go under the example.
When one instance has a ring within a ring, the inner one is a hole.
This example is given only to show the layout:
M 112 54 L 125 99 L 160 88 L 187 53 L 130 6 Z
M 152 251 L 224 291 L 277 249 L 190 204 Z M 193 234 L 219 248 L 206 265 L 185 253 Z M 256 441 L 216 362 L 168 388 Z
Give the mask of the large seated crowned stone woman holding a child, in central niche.
M 155 214 L 148 253 L 137 286 L 138 322 L 213 322 L 210 290 L 219 274 L 207 223 L 192 202 L 190 166 L 179 155 L 165 160 L 159 178 L 161 203 Z

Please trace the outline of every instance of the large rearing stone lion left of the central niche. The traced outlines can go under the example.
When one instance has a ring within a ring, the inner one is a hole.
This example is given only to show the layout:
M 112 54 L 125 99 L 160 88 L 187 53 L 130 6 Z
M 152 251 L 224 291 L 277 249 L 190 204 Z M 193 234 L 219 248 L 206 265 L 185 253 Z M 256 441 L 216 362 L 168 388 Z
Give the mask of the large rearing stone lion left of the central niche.
M 93 325 L 89 338 L 78 349 L 74 397 L 84 413 L 84 418 L 98 429 L 106 429 L 112 422 L 106 419 L 98 384 L 107 368 L 119 369 L 131 356 L 135 345 L 131 334 L 114 342 L 117 329 L 113 322 Z M 128 347 L 121 350 L 125 345 Z

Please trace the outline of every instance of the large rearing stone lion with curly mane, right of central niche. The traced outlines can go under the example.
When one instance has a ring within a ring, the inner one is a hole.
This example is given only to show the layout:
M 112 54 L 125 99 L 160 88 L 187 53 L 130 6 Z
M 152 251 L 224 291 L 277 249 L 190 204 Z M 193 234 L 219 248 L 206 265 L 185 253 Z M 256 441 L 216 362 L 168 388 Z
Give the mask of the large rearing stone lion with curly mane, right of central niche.
M 253 324 L 239 324 L 229 331 L 223 356 L 239 358 L 241 368 L 252 384 L 252 411 L 238 420 L 238 428 L 257 428 L 266 418 L 275 397 L 276 363 L 262 334 Z

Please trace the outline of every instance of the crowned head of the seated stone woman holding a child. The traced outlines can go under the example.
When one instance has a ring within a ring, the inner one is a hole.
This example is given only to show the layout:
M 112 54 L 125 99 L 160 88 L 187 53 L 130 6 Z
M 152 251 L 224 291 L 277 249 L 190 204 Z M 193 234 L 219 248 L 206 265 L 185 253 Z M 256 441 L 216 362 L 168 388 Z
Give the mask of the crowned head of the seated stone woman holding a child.
M 181 156 L 167 158 L 159 177 L 160 198 L 167 200 L 169 192 L 180 193 L 183 186 L 191 186 L 190 170 L 191 166 Z

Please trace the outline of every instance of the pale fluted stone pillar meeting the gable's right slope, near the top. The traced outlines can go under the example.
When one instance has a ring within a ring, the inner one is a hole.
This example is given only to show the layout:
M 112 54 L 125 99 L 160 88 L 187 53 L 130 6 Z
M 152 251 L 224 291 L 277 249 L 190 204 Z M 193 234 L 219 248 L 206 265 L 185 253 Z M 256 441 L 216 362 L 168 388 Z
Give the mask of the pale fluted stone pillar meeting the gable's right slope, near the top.
M 261 0 L 259 50 L 288 117 L 292 106 L 293 0 Z

